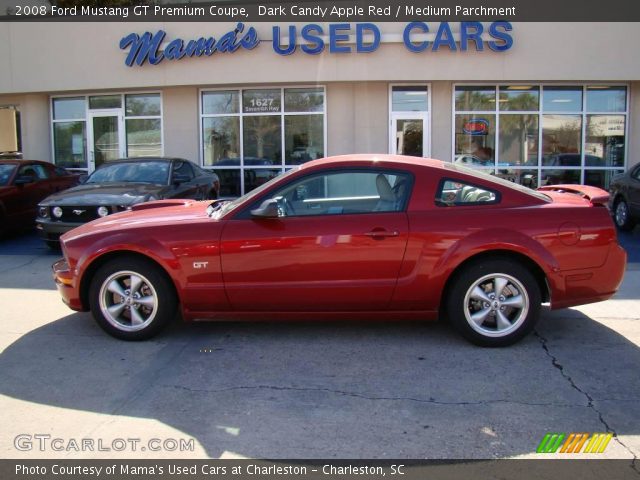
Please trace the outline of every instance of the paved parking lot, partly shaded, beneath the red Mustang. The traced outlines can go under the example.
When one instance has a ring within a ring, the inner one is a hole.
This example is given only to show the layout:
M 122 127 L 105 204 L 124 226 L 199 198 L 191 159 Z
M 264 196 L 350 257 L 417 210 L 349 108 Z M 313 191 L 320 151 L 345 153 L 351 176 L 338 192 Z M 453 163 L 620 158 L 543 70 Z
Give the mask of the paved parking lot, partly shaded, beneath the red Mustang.
M 613 431 L 604 456 L 634 459 L 640 228 L 620 238 L 629 265 L 612 300 L 545 310 L 506 349 L 440 323 L 176 324 L 122 342 L 62 304 L 50 274 L 59 254 L 33 234 L 5 239 L 0 455 L 503 458 L 535 456 L 547 432 Z M 16 448 L 36 435 L 63 448 Z M 104 449 L 70 447 L 81 439 Z M 120 451 L 118 439 L 139 443 Z M 185 451 L 167 442 L 191 439 Z

